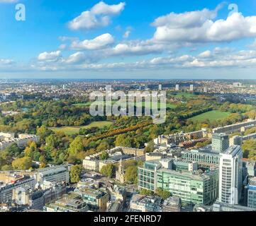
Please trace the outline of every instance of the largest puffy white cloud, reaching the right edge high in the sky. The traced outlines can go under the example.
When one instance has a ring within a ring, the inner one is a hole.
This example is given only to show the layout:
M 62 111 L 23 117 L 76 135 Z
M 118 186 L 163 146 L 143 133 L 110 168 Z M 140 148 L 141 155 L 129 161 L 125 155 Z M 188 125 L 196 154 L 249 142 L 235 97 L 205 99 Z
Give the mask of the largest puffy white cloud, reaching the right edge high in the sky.
M 184 18 L 183 18 L 184 16 Z M 233 13 L 226 20 L 213 21 L 211 11 L 171 13 L 167 18 L 157 18 L 156 42 L 205 43 L 230 42 L 245 37 L 256 37 L 256 16 L 244 17 Z M 183 18 L 183 19 L 182 19 Z

